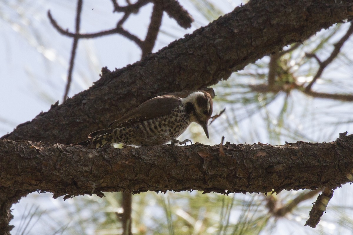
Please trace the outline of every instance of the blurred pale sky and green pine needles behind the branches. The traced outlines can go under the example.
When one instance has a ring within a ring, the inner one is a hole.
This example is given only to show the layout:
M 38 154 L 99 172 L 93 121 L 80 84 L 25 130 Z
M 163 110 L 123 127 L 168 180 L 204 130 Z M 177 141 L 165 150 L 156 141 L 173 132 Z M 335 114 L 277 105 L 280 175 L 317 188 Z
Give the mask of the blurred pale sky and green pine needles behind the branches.
M 118 1 L 126 5 L 128 1 Z M 195 20 L 183 29 L 166 13 L 153 52 L 207 25 L 246 1 L 179 0 Z M 133 2 L 132 2 L 133 3 Z M 73 39 L 61 35 L 47 16 L 63 29 L 75 31 L 76 1 L 0 1 L 0 136 L 20 123 L 62 103 Z M 124 29 L 144 38 L 153 5 L 146 4 L 124 22 Z M 122 13 L 112 1 L 85 0 L 80 32 L 116 26 Z M 265 56 L 226 81 L 213 86 L 214 113 L 226 112 L 209 127 L 207 139 L 197 124 L 179 137 L 193 142 L 231 143 L 335 141 L 352 129 L 353 72 L 351 24 L 322 30 L 303 43 Z M 341 44 L 340 44 L 341 43 Z M 337 52 L 337 53 L 336 53 Z M 140 60 L 140 48 L 121 35 L 80 39 L 68 96 L 88 89 L 101 68 L 122 68 Z M 324 63 L 327 62 L 327 63 Z M 325 65 L 325 66 L 324 66 Z M 318 74 L 318 71 L 321 74 Z M 318 76 L 319 75 L 319 76 Z M 310 86 L 310 89 L 306 89 Z M 133 196 L 133 234 L 353 234 L 352 187 L 334 192 L 316 229 L 304 227 L 320 191 L 279 194 L 146 192 Z M 53 199 L 32 193 L 13 206 L 12 234 L 120 234 L 120 193 L 106 197 Z

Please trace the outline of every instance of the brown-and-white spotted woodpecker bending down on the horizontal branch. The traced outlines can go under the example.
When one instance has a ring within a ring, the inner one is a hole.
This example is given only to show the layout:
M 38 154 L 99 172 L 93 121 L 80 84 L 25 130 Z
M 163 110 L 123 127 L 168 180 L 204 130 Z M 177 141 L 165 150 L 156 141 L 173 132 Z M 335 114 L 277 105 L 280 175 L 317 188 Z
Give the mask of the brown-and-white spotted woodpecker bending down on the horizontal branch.
M 100 148 L 108 144 L 127 146 L 156 146 L 177 141 L 192 122 L 202 126 L 207 138 L 208 120 L 213 112 L 211 95 L 203 90 L 185 98 L 161 95 L 149 99 L 112 122 L 107 129 L 92 132 L 88 140 L 76 143 Z M 190 141 L 191 142 L 191 141 Z

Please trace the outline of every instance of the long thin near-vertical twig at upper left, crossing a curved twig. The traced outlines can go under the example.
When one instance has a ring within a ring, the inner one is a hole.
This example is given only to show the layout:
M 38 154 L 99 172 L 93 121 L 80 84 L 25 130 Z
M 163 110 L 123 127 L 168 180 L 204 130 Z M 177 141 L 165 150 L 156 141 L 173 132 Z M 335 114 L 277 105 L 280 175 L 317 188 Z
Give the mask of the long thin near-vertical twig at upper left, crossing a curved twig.
M 77 10 L 76 10 L 76 25 L 75 25 L 75 32 L 76 34 L 80 31 L 80 20 L 81 20 L 81 12 L 82 12 L 82 0 L 77 1 Z M 70 90 L 71 81 L 72 81 L 72 71 L 73 65 L 76 56 L 76 49 L 78 44 L 78 37 L 73 38 L 72 49 L 71 49 L 71 58 L 70 58 L 70 66 L 67 73 L 67 84 L 65 88 L 64 98 L 62 99 L 64 102 L 67 99 L 68 91 Z

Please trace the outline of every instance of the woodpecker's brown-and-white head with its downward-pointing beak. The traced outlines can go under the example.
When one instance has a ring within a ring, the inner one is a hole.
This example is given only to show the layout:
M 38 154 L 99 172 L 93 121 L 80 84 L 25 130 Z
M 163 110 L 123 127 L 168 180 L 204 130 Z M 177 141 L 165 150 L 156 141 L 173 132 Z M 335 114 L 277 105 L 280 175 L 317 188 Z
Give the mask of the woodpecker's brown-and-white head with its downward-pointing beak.
M 213 111 L 211 95 L 205 91 L 196 91 L 182 99 L 191 122 L 200 124 L 208 138 L 208 120 Z

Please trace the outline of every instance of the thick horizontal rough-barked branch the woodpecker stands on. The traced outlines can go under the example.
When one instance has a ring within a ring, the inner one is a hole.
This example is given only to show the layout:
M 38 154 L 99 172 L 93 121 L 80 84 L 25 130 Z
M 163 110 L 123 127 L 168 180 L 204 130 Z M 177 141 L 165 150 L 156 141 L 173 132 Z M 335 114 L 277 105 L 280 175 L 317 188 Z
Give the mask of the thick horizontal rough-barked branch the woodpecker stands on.
M 156 146 L 88 149 L 82 146 L 0 140 L 1 230 L 10 229 L 10 207 L 30 192 L 53 197 L 104 191 L 199 190 L 280 192 L 333 188 L 349 182 L 353 135 L 335 142 L 283 146 Z M 274 166 L 285 168 L 273 171 Z

